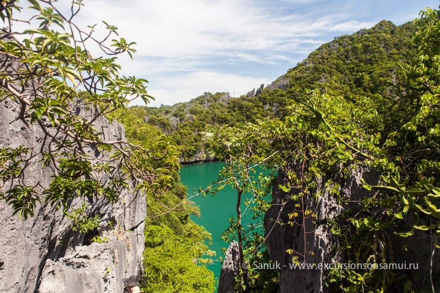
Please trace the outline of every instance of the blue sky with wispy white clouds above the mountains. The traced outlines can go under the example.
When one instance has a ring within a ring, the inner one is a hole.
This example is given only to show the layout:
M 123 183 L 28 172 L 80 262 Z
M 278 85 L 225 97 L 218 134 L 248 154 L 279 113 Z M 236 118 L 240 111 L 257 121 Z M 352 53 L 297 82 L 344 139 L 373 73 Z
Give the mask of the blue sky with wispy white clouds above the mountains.
M 68 4 L 59 0 L 59 5 Z M 399 25 L 439 0 L 84 0 L 75 22 L 106 21 L 136 42 L 122 74 L 149 81 L 150 106 L 204 92 L 238 97 L 270 84 L 322 43 L 370 28 Z M 58 4 L 57 4 L 58 5 Z M 134 104 L 142 105 L 142 101 Z M 132 105 L 134 105 L 132 104 Z

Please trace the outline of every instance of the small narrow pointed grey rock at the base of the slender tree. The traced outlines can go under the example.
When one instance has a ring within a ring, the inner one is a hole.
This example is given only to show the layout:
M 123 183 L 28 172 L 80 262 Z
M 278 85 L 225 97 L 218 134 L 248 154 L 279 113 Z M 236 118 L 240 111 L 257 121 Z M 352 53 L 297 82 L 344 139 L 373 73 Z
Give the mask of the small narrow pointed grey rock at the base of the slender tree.
M 220 271 L 219 289 L 217 293 L 235 293 L 235 276 L 240 269 L 237 241 L 232 241 L 226 251 Z

